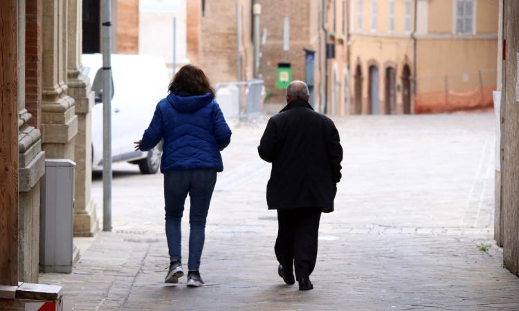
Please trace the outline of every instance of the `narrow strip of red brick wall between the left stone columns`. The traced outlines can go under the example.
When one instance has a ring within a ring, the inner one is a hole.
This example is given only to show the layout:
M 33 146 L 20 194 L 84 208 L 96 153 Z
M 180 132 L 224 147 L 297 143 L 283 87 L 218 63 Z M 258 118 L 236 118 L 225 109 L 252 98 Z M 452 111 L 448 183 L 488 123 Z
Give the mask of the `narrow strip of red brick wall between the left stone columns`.
M 31 126 L 42 124 L 42 0 L 26 0 L 26 109 Z

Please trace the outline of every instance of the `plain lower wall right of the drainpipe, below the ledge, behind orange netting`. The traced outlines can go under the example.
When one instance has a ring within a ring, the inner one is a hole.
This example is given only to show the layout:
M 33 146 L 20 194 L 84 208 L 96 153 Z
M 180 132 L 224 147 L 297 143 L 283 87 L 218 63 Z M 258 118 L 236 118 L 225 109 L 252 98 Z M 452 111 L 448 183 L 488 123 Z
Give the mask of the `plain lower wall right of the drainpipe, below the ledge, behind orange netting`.
M 497 39 L 419 39 L 415 112 L 491 106 Z

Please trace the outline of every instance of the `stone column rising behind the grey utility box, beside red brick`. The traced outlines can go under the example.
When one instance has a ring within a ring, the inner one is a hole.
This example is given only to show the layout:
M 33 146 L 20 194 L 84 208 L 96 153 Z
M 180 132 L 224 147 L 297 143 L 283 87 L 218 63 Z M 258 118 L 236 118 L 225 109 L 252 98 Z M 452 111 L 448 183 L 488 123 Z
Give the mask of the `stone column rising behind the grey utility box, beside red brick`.
M 43 6 L 42 134 L 47 158 L 74 160 L 78 117 L 66 84 L 66 1 Z

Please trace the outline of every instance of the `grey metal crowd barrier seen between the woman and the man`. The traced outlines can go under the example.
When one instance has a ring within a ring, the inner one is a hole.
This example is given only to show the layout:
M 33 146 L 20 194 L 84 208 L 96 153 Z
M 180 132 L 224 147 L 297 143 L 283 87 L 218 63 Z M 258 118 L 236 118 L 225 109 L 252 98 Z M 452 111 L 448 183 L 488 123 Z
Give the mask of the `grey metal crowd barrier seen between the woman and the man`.
M 260 113 L 265 95 L 264 81 L 222 82 L 215 85 L 216 100 L 225 117 L 244 120 Z

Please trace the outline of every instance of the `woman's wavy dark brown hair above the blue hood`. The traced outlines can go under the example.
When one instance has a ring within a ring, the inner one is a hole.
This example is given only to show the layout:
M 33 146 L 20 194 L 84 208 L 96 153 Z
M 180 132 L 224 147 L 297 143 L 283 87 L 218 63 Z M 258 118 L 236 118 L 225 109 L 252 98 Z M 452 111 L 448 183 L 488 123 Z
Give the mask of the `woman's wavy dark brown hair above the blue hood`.
M 173 77 L 170 86 L 170 93 L 189 95 L 203 95 L 211 93 L 215 97 L 215 89 L 209 83 L 209 79 L 197 66 L 185 65 Z

